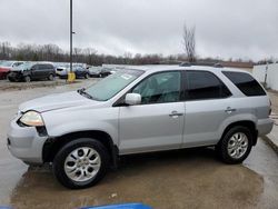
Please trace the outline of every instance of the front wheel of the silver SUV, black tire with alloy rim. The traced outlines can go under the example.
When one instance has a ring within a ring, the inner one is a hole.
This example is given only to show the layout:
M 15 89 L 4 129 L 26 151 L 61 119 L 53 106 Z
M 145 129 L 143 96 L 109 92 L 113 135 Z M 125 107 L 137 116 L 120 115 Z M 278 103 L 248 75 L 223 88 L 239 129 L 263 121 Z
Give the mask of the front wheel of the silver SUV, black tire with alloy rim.
M 88 158 L 88 161 L 86 161 L 86 158 Z M 92 163 L 89 162 L 89 159 L 97 161 Z M 53 160 L 53 173 L 64 187 L 83 189 L 92 187 L 105 177 L 108 163 L 109 155 L 101 142 L 90 138 L 80 138 L 67 143 L 58 151 Z M 70 171 L 67 171 L 66 166 Z M 92 168 L 92 166 L 96 168 Z

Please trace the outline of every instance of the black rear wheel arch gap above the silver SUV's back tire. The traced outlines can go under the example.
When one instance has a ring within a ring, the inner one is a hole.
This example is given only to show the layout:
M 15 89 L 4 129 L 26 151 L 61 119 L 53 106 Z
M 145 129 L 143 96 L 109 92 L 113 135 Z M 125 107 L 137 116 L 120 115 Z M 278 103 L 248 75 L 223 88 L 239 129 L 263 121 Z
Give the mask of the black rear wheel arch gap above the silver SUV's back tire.
M 224 136 L 232 128 L 232 127 L 246 127 L 251 131 L 252 135 L 252 146 L 256 146 L 257 140 L 258 140 L 258 131 L 256 129 L 256 125 L 255 122 L 250 121 L 250 120 L 242 120 L 242 121 L 237 121 L 237 122 L 232 122 L 230 123 L 228 127 L 226 127 L 221 139 L 224 138 Z

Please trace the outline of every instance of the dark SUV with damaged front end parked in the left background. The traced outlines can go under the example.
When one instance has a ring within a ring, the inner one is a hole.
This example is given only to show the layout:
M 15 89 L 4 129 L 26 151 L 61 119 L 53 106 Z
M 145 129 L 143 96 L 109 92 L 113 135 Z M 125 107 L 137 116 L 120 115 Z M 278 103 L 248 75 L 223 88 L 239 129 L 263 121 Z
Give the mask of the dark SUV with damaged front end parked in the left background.
M 54 80 L 54 67 L 48 62 L 27 62 L 16 68 L 12 68 L 8 74 L 10 81 L 26 81 L 32 80 Z

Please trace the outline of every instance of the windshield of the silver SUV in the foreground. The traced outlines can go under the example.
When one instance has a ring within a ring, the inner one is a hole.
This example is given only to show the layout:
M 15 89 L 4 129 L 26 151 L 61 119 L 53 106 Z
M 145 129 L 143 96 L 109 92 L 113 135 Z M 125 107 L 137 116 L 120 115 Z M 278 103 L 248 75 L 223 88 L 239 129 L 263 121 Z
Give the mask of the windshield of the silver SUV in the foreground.
M 107 101 L 120 92 L 125 87 L 141 76 L 141 70 L 122 69 L 116 73 L 96 82 L 85 90 L 92 99 L 98 101 Z

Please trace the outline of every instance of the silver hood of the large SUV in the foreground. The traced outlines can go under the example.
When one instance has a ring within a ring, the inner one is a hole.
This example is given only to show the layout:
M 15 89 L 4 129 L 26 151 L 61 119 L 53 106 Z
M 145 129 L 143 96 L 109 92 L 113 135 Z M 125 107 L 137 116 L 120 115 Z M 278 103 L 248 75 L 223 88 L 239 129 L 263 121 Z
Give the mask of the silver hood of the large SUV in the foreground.
M 78 107 L 83 104 L 89 104 L 92 102 L 97 102 L 95 100 L 90 100 L 77 91 L 70 91 L 66 93 L 56 93 L 46 97 L 41 97 L 38 99 L 33 99 L 27 102 L 23 102 L 19 106 L 19 110 L 24 112 L 28 110 L 36 110 L 39 112 L 57 110 L 62 108 Z

